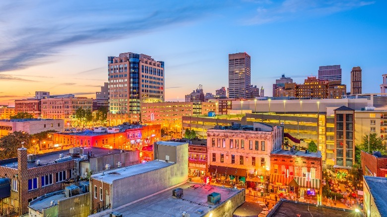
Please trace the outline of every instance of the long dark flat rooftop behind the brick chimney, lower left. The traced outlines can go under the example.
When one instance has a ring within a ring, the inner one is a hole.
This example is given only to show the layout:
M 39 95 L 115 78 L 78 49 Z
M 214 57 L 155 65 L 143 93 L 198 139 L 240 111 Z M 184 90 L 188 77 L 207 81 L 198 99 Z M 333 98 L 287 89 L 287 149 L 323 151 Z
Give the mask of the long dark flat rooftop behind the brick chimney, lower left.
M 84 155 L 87 155 L 88 152 L 90 153 L 90 158 L 98 158 L 102 156 L 116 155 L 121 153 L 121 150 L 119 149 L 105 149 L 105 148 L 98 148 L 98 147 L 85 147 L 83 148 L 83 150 L 84 150 Z M 69 150 L 50 152 L 46 154 L 37 155 L 35 162 L 27 163 L 27 167 L 28 168 L 37 167 L 36 165 L 37 160 L 40 160 L 40 166 L 55 163 L 55 160 L 59 159 L 60 154 L 63 154 L 64 157 L 69 157 L 69 158 L 66 158 L 64 161 L 79 159 L 79 155 L 74 155 L 71 157 Z M 2 160 L 0 161 L 0 166 L 6 166 L 6 167 L 17 169 L 17 158 Z

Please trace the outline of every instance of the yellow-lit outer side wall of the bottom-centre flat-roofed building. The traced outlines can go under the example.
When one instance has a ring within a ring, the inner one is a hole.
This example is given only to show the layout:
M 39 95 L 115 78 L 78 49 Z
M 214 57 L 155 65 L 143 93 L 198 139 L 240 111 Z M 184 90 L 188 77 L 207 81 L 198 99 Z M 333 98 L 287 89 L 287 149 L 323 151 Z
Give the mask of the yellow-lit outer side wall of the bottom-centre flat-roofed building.
M 232 217 L 234 211 L 245 203 L 246 190 L 242 189 L 238 194 L 232 198 L 222 202 L 210 212 L 202 215 L 201 217 Z

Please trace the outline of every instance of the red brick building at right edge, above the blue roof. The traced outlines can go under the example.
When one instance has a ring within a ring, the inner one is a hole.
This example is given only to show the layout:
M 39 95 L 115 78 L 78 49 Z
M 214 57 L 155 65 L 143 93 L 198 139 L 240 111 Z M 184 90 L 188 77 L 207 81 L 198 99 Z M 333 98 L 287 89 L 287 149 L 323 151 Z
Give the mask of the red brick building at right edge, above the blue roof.
M 387 156 L 361 152 L 363 175 L 387 178 Z

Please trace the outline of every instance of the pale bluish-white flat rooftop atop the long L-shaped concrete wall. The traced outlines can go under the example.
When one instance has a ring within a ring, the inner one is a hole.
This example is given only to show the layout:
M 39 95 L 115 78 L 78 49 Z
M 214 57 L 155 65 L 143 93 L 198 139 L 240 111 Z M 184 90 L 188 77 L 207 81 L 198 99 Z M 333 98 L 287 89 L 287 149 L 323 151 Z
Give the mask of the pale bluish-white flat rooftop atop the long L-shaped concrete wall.
M 91 175 L 91 177 L 94 179 L 103 180 L 106 183 L 112 184 L 114 180 L 164 168 L 170 165 L 172 165 L 172 163 L 166 163 L 163 161 L 156 160 L 156 161 L 140 163 L 132 166 L 122 167 L 119 169 L 99 172 L 94 175 Z

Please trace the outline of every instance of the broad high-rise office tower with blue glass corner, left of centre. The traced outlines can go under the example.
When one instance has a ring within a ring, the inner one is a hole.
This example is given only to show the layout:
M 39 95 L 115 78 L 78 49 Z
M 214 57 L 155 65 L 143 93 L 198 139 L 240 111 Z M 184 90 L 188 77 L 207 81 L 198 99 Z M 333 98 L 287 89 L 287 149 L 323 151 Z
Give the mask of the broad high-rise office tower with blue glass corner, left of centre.
M 145 54 L 108 57 L 109 112 L 139 114 L 140 103 L 164 101 L 164 62 Z

